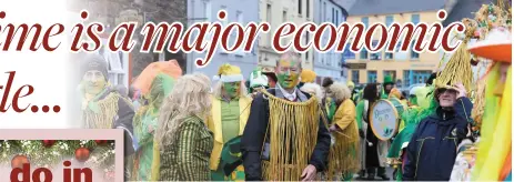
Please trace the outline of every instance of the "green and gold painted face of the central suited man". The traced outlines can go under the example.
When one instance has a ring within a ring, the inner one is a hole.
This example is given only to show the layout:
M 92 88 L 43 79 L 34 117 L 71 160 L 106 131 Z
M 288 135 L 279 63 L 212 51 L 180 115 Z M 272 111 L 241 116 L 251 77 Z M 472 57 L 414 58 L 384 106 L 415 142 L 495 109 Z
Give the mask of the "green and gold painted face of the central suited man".
M 276 68 L 276 78 L 284 89 L 292 89 L 298 85 L 300 79 L 300 64 L 294 60 L 280 60 Z

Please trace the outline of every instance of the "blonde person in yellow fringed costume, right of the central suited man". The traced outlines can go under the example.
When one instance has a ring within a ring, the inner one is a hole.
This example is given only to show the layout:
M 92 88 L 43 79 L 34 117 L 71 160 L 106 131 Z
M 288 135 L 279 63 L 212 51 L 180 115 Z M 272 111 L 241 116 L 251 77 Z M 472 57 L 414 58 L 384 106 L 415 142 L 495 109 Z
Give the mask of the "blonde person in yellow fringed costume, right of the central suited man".
M 360 171 L 360 136 L 356 121 L 355 104 L 351 99 L 350 89 L 339 82 L 330 87 L 330 97 L 334 98 L 337 105 L 330 132 L 334 138 L 334 144 L 329 155 L 329 170 L 326 180 L 353 179 L 353 174 Z M 336 178 L 336 179 L 334 179 Z

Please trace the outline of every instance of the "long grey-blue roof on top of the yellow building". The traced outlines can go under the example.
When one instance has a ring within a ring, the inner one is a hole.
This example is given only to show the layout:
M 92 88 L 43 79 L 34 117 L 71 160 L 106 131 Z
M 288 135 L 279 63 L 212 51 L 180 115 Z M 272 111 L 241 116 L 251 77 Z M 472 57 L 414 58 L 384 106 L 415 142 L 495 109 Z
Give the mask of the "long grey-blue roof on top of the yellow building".
M 436 11 L 444 9 L 445 0 L 357 0 L 350 16 L 394 14 L 403 12 Z

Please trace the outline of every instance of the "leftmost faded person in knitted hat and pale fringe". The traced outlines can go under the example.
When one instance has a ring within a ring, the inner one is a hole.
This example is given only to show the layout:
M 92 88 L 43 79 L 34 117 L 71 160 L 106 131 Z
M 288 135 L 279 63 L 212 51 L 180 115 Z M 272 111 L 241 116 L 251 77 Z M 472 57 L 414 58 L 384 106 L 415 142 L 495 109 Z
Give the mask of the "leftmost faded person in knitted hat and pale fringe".
M 82 62 L 82 122 L 85 129 L 123 129 L 124 155 L 130 160 L 134 153 L 132 103 L 110 87 L 107 61 L 98 54 L 88 54 Z M 130 162 L 131 163 L 131 162 Z M 130 174 L 131 164 L 125 168 L 125 178 Z

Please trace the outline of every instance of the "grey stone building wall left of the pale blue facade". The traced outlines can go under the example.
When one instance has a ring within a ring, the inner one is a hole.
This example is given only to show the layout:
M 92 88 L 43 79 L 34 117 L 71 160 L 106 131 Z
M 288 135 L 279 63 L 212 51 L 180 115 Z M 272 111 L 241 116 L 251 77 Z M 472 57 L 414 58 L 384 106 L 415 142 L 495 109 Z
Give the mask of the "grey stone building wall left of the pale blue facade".
M 77 12 L 87 9 L 90 12 L 90 20 L 102 22 L 108 31 L 128 19 L 139 20 L 141 26 L 148 21 L 155 23 L 181 21 L 184 26 L 188 23 L 187 0 L 69 0 L 68 7 Z M 143 40 L 140 34 L 141 26 L 133 37 L 138 43 L 132 52 L 132 68 L 130 68 L 132 77 L 139 75 L 149 63 L 159 60 L 157 53 L 139 52 Z M 185 65 L 183 53 L 165 53 L 167 60 L 172 58 L 179 58 L 178 61 Z

